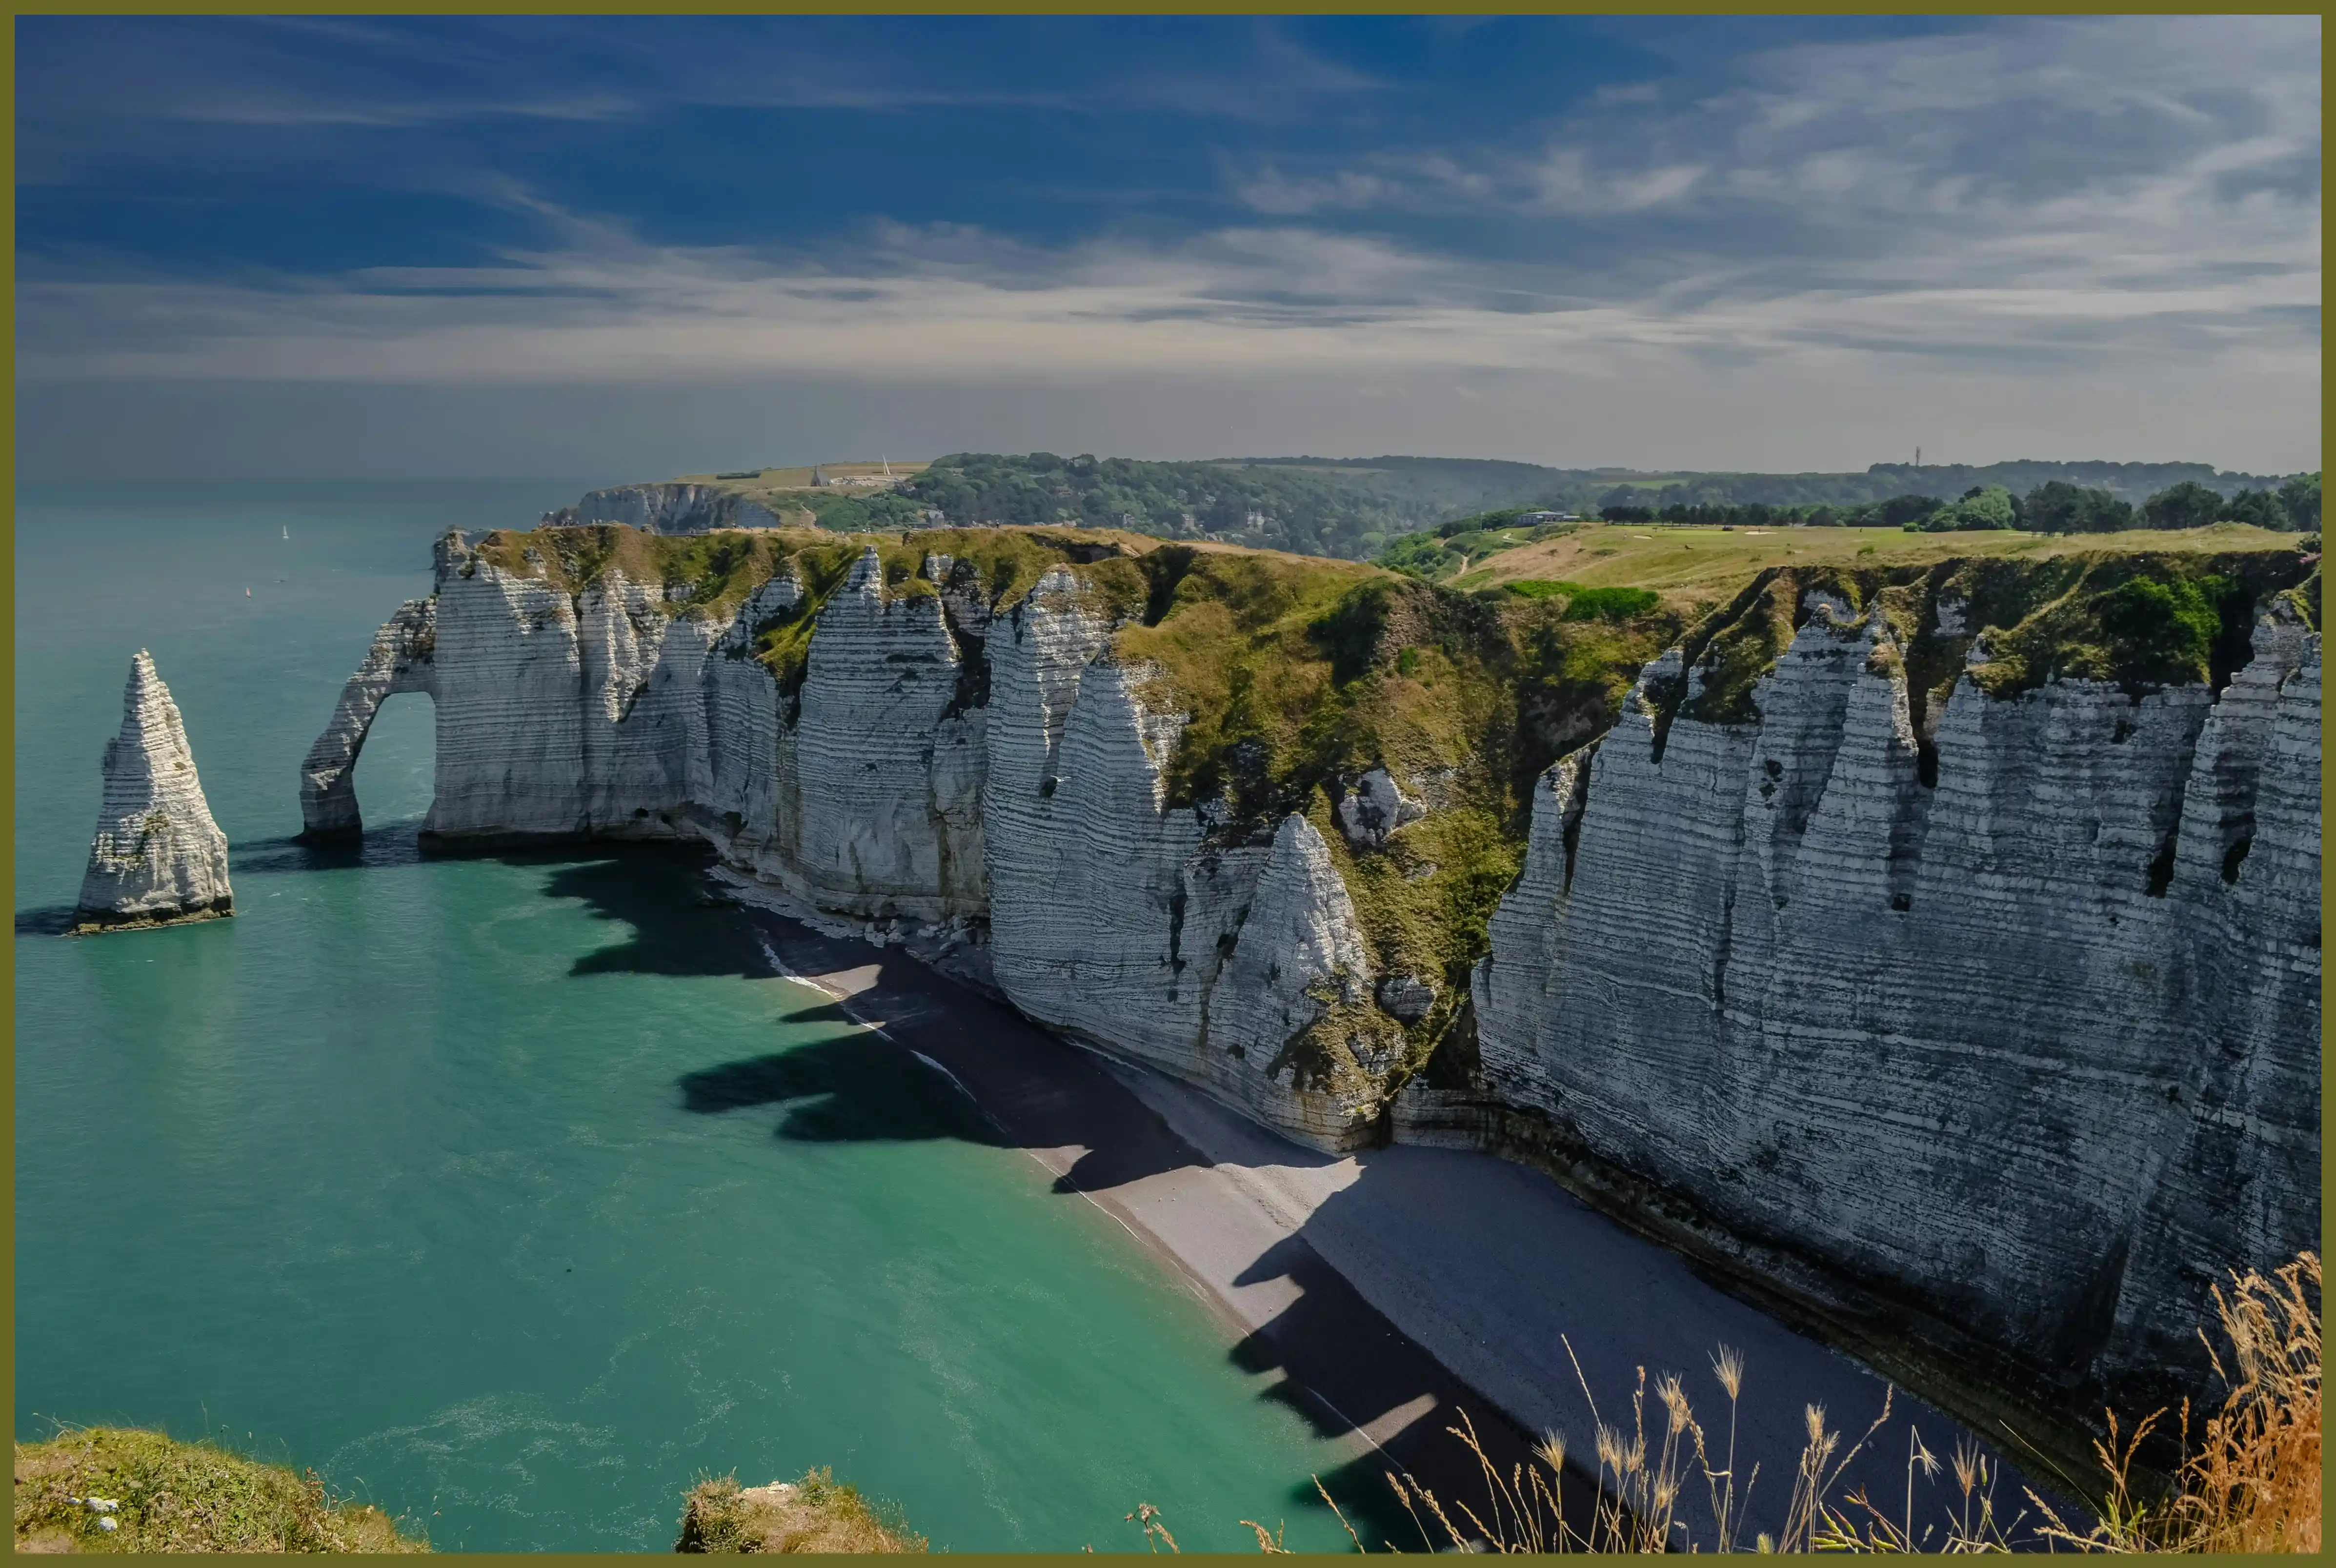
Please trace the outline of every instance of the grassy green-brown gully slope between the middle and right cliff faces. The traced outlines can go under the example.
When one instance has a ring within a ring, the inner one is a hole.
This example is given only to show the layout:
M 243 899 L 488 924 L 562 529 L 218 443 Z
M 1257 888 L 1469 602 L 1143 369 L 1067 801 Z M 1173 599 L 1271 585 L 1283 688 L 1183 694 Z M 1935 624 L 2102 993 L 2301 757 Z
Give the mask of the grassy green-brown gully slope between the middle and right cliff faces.
M 1355 900 L 1374 972 L 1439 993 L 1409 1028 L 1332 1005 L 1275 1063 L 1301 1087 L 1383 1091 L 1465 1028 L 1467 970 L 1516 879 L 1532 780 L 1612 724 L 1638 666 L 1684 622 L 1652 596 L 1584 622 L 1563 598 L 1495 603 L 1296 556 L 1168 547 L 1145 568 L 1147 619 L 1114 652 L 1149 666 L 1152 706 L 1191 715 L 1168 802 L 1215 802 L 1229 844 L 1303 813 Z M 1334 804 L 1374 766 L 1432 811 L 1357 851 Z

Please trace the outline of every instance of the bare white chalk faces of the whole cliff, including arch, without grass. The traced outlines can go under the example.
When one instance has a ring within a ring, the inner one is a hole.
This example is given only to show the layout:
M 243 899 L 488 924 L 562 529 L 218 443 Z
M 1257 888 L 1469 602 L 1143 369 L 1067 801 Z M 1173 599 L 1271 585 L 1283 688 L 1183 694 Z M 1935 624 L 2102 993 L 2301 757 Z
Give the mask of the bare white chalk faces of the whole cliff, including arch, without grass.
M 783 689 L 755 643 L 792 568 L 712 622 L 449 535 L 304 766 L 308 830 L 355 827 L 364 724 L 423 689 L 442 846 L 703 839 L 1296 1138 L 1523 1117 L 2070 1388 L 2186 1365 L 2210 1278 L 2315 1246 L 2320 638 L 2282 603 L 2219 696 L 1965 678 L 1927 736 L 1887 624 L 1841 601 L 1799 608 L 1745 722 L 1649 664 L 1535 792 L 1467 1082 L 1397 1094 L 1383 1019 L 1434 986 L 1374 972 L 1306 816 L 1168 804 L 1187 715 L 1114 652 L 1128 612 L 1072 563 L 1011 603 L 948 556 L 918 577 L 869 549 Z M 1374 773 L 1355 853 L 1432 799 Z

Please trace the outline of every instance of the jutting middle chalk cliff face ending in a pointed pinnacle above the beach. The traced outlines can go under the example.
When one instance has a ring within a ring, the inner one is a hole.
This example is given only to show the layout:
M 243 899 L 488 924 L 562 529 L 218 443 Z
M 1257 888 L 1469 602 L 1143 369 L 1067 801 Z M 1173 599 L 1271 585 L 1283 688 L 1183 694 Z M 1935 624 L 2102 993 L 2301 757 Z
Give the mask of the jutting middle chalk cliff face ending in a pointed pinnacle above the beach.
M 988 820 L 997 986 L 1042 1024 L 1198 1082 L 1322 1147 L 1369 1133 L 1385 1073 L 1299 1047 L 1369 984 L 1353 900 L 1303 816 L 1210 832 L 1168 809 L 1184 715 L 1110 657 L 1110 619 L 1049 573 L 993 636 Z

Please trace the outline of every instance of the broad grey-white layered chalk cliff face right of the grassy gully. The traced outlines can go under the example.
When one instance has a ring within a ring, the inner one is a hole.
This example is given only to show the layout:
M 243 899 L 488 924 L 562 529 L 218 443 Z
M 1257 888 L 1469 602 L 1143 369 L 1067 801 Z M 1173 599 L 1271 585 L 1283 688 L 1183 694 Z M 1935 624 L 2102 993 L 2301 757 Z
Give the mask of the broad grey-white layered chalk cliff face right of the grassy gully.
M 2179 1390 L 2320 1234 L 2320 638 L 2273 601 L 2219 701 L 1962 675 L 1925 783 L 1880 605 L 1803 615 L 1750 722 L 1673 657 L 1549 771 L 1479 1082 L 1399 1124 L 1528 1108 L 1955 1348 Z

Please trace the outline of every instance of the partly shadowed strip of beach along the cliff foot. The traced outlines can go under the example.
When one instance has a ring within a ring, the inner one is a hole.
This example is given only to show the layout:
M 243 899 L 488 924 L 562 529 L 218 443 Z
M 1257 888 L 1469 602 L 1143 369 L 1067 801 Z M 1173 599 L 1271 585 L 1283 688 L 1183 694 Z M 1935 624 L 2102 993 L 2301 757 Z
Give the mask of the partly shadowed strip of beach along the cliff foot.
M 1631 1442 L 1640 1369 L 1649 1446 L 1666 1430 L 1654 1381 L 1680 1374 L 1710 1463 L 1724 1468 L 1731 1404 L 1712 1358 L 1726 1346 L 1743 1358 L 1733 1472 L 1738 1496 L 1750 1484 L 1750 1507 L 1738 1510 L 1740 1545 L 1750 1531 L 1782 1526 L 1810 1404 L 1829 1430 L 1848 1432 L 1843 1449 L 1883 1411 L 1880 1376 L 1535 1171 L 1458 1150 L 1303 1150 L 1187 1084 L 1065 1045 L 897 946 L 820 935 L 762 909 L 750 918 L 783 972 L 948 1073 L 1058 1189 L 1098 1203 L 1173 1260 L 1229 1318 L 1243 1365 L 1280 1367 L 1303 1390 L 1292 1402 L 1320 1430 L 1355 1437 L 1357 1458 L 1334 1491 L 1341 1505 L 1362 1493 L 1390 1531 L 1376 1505 L 1388 1468 L 1444 1496 L 1483 1498 L 1474 1461 L 1444 1432 L 1460 1409 L 1502 1468 L 1523 1456 L 1528 1435 L 1563 1432 L 1567 1453 L 1595 1470 L 1600 1423 Z M 1958 1498 L 1944 1461 L 1962 1432 L 1902 1390 L 1890 1409 L 1843 1491 L 1862 1484 L 1899 1519 L 1913 1472 L 1920 1533 Z M 1911 1465 L 1916 1442 L 1941 1461 L 1937 1477 Z M 1710 1549 L 1705 1484 L 1694 1463 L 1687 1475 L 1680 1514 Z M 2004 1517 L 2025 1507 L 2016 1470 L 1995 1503 Z M 1411 1531 L 1402 1514 L 1392 1519 Z M 1392 1540 L 1420 1547 L 1416 1535 Z

